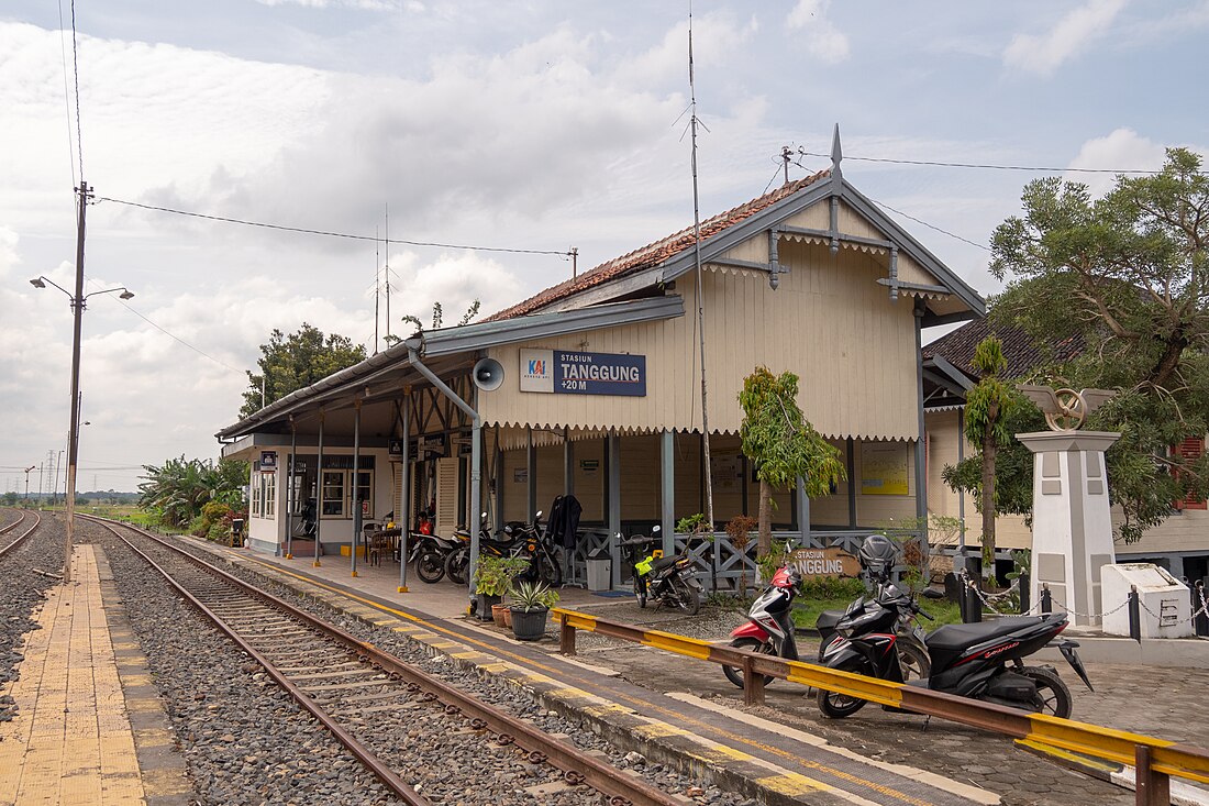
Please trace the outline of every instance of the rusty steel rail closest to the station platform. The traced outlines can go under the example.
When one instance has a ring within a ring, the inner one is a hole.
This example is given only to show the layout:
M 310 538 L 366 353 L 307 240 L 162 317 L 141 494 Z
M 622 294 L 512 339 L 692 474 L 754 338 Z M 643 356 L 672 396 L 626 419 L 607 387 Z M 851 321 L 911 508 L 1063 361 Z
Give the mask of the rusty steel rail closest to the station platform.
M 104 520 L 97 520 L 99 523 L 104 523 L 106 526 L 109 525 Z M 253 585 L 249 585 L 248 582 L 244 582 L 220 568 L 215 568 L 214 565 L 193 557 L 178 546 L 173 546 L 155 535 L 149 535 L 144 530 L 135 526 L 131 526 L 128 524 L 120 525 L 180 554 L 185 559 L 237 586 L 242 591 L 264 600 L 271 606 L 287 612 L 288 615 L 302 621 L 307 626 L 329 635 L 330 638 L 346 644 L 349 649 L 355 649 L 358 652 L 370 658 L 372 663 L 378 664 L 388 672 L 398 674 L 406 683 L 415 684 L 421 690 L 432 693 L 438 701 L 445 703 L 446 706 L 455 707 L 458 712 L 472 716 L 474 720 L 479 720 L 481 722 L 481 727 L 487 727 L 492 732 L 497 733 L 501 741 L 507 743 L 515 742 L 517 747 L 530 752 L 534 762 L 545 761 L 562 770 L 566 773 L 566 779 L 571 784 L 586 783 L 608 796 L 611 799 L 611 804 L 617 806 L 623 804 L 634 804 L 634 806 L 682 806 L 682 801 L 676 800 L 671 795 L 652 787 L 640 778 L 635 778 L 634 776 L 630 776 L 604 761 L 588 755 L 571 744 L 560 742 L 533 725 L 530 725 L 511 714 L 496 708 L 494 706 L 485 703 L 474 696 L 427 674 L 418 667 L 415 667 L 406 661 L 378 649 L 374 644 L 363 641 L 355 635 L 352 635 L 334 624 L 329 624 L 312 614 L 300 610 L 295 605 Z

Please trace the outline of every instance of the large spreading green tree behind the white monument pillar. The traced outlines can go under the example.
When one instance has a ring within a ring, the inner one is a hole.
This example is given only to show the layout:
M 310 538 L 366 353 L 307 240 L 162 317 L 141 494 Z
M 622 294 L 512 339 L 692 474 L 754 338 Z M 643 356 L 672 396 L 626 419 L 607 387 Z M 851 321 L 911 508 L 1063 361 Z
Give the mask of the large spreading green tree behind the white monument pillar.
M 1101 198 L 1048 178 L 1023 205 L 993 237 L 991 272 L 1011 276 L 993 317 L 1046 344 L 1082 338 L 1055 380 L 1120 391 L 1089 426 L 1121 432 L 1110 490 L 1117 536 L 1138 540 L 1173 502 L 1209 494 L 1209 457 L 1173 450 L 1204 437 L 1209 411 L 1209 174 L 1169 149 L 1161 173 L 1118 177 Z

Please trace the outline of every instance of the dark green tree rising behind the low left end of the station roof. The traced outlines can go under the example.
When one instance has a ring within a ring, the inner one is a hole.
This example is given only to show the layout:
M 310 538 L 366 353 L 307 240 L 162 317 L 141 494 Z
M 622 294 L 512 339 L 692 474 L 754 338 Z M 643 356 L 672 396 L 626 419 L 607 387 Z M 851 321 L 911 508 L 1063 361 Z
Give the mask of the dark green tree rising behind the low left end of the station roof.
M 243 393 L 241 418 L 250 416 L 290 392 L 365 361 L 364 346 L 354 345 L 352 339 L 336 333 L 324 335 L 323 330 L 306 322 L 289 335 L 273 328 L 268 344 L 260 345 L 260 353 L 256 359 L 260 372 L 248 370 L 248 391 Z

